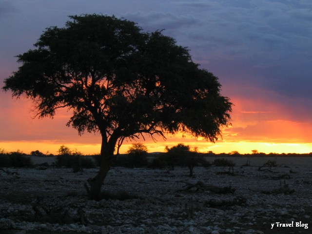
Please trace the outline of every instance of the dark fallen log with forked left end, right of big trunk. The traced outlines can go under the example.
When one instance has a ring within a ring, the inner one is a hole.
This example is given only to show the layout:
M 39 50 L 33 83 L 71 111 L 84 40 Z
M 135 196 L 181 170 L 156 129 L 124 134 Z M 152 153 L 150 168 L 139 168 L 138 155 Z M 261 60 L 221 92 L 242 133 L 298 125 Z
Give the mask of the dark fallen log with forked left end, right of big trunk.
M 205 185 L 202 181 L 197 181 L 197 183 L 192 184 L 186 181 L 178 181 L 184 183 L 184 188 L 181 190 L 177 190 L 176 192 L 181 191 L 188 191 L 190 189 L 196 188 L 196 191 L 211 191 L 215 194 L 233 194 L 236 189 L 232 188 L 231 186 L 219 187 L 215 185 Z

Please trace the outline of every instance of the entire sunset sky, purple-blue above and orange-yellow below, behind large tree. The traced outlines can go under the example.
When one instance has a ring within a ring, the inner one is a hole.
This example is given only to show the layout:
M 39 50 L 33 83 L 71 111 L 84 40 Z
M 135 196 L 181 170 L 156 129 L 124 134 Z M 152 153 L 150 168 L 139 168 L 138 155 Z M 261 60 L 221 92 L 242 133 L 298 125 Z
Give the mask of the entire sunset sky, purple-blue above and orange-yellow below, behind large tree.
M 219 78 L 234 103 L 232 126 L 215 143 L 191 136 L 143 142 L 149 152 L 185 143 L 201 152 L 312 152 L 311 0 L 1 0 L 0 87 L 45 28 L 69 15 L 115 15 L 190 49 L 193 61 Z M 0 148 L 55 154 L 60 145 L 99 153 L 100 136 L 65 126 L 70 112 L 33 119 L 29 99 L 0 91 Z M 124 143 L 122 152 L 132 142 Z

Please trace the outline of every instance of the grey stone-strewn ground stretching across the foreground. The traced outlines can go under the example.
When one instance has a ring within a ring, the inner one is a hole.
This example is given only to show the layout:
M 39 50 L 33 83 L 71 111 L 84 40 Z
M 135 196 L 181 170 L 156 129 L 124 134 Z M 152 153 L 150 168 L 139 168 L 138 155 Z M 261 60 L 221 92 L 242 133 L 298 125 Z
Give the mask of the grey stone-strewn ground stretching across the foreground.
M 195 167 L 193 177 L 187 168 L 112 168 L 103 189 L 132 199 L 101 201 L 88 200 L 83 186 L 97 169 L 5 168 L 0 171 L 0 233 L 311 233 L 312 158 L 252 158 L 244 167 L 246 158 L 231 160 L 236 163 L 232 175 L 215 166 Z M 268 160 L 278 167 L 258 171 Z M 185 190 L 181 181 L 206 187 Z M 215 193 L 209 189 L 214 186 L 235 192 Z M 277 227 L 283 224 L 293 227 Z

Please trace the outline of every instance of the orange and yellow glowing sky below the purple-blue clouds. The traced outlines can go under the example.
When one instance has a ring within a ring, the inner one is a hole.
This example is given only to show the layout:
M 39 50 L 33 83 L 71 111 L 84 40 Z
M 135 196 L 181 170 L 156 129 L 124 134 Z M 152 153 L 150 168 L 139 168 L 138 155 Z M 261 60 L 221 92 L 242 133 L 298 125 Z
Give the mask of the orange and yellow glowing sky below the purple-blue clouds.
M 261 98 L 231 98 L 234 103 L 231 113 L 232 126 L 222 130 L 223 137 L 220 137 L 215 144 L 201 137 L 196 139 L 188 135 L 183 136 L 181 133 L 167 136 L 167 140 L 156 137 L 157 141 L 154 142 L 150 137 L 146 137 L 146 141 L 143 139 L 138 141 L 146 145 L 150 153 L 164 152 L 165 146 L 172 147 L 178 143 L 190 145 L 191 148 L 197 147 L 202 153 L 212 151 L 219 154 L 238 151 L 240 154 L 247 154 L 252 150 L 266 154 L 311 153 L 312 122 L 310 119 L 301 114 L 300 109 L 297 113 L 290 113 L 286 106 L 266 99 L 268 95 L 266 96 L 261 90 L 254 89 L 253 93 Z M 274 98 L 280 97 L 274 96 Z M 274 98 L 271 97 L 273 100 Z M 86 133 L 80 137 L 75 129 L 65 126 L 71 117 L 71 112 L 59 110 L 54 119 L 32 119 L 29 99 L 11 100 L 5 96 L 3 103 L 7 103 L 7 109 L 4 110 L 6 115 L 0 115 L 1 149 L 8 152 L 20 150 L 26 154 L 35 150 L 57 154 L 60 145 L 66 145 L 86 155 L 100 152 L 99 134 Z M 125 140 L 120 153 L 125 153 L 132 143 Z

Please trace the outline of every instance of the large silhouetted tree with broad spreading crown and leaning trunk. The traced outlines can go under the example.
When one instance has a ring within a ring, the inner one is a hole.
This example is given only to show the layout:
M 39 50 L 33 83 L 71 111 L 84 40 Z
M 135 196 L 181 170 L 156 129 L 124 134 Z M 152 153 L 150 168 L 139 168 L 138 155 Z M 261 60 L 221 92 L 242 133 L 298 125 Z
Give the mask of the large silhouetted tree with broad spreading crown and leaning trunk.
M 175 39 L 143 32 L 129 20 L 70 16 L 64 27 L 47 28 L 35 49 L 17 57 L 22 65 L 5 79 L 5 91 L 33 99 L 38 117 L 68 108 L 68 126 L 80 135 L 100 133 L 91 199 L 98 198 L 125 138 L 181 131 L 214 142 L 229 124 L 232 103 L 220 95 L 218 79 L 199 69 Z

